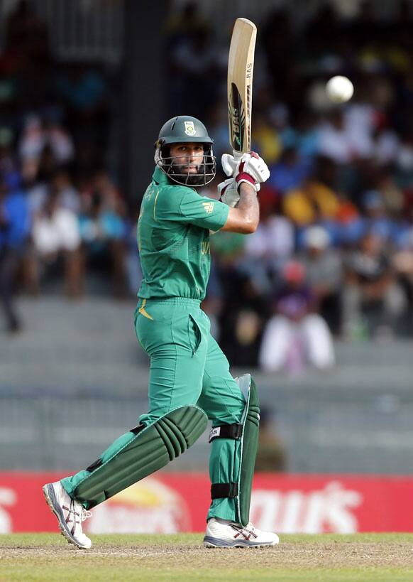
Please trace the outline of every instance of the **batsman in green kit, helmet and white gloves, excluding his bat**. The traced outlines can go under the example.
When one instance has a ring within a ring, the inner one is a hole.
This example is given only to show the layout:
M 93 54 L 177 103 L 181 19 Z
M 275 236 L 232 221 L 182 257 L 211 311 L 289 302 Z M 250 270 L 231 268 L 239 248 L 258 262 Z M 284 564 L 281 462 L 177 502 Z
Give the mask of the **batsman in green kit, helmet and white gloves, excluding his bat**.
M 166 122 L 155 144 L 155 171 L 141 205 L 138 247 L 143 281 L 135 327 L 150 356 L 148 413 L 89 467 L 44 485 L 62 534 L 79 548 L 92 541 L 82 522 L 93 507 L 185 452 L 212 421 L 208 547 L 274 546 L 278 537 L 249 521 L 260 409 L 250 374 L 234 379 L 200 307 L 209 278 L 210 232 L 248 234 L 258 226 L 257 192 L 270 176 L 256 153 L 222 156 L 229 178 L 220 200 L 197 188 L 213 180 L 212 139 L 202 122 Z

